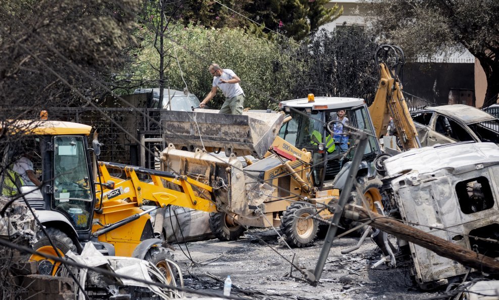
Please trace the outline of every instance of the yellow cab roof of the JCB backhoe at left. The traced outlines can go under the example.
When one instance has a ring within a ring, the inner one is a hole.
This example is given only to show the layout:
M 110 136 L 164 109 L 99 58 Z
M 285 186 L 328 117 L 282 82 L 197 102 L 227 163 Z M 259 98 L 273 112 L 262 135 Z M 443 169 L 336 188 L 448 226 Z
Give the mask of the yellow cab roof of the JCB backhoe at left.
M 0 124 L 0 128 L 4 124 Z M 89 135 L 91 126 L 64 121 L 52 120 L 15 120 L 9 122 L 11 132 L 23 133 L 25 135 Z

